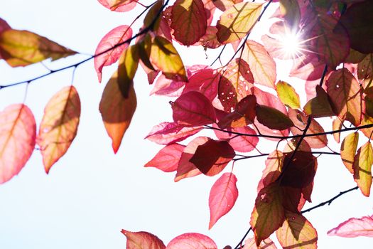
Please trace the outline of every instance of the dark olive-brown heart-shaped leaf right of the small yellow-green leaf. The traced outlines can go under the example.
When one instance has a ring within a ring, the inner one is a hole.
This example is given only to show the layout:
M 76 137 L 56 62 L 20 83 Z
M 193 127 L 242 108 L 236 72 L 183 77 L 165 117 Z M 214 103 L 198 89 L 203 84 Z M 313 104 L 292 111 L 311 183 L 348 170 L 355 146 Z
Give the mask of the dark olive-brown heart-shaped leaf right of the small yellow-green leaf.
M 312 115 L 313 117 L 330 117 L 335 115 L 330 106 L 328 95 L 320 85 L 316 85 L 316 97 L 308 100 L 303 109 L 306 115 Z

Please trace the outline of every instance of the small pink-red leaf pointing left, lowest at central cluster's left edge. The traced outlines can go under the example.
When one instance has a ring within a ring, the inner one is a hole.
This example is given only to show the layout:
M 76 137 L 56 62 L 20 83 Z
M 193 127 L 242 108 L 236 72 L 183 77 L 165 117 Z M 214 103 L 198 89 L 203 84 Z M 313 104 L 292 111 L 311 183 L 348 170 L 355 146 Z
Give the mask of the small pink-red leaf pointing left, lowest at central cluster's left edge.
M 178 162 L 185 146 L 182 144 L 170 144 L 163 147 L 153 159 L 148 161 L 146 167 L 155 167 L 161 171 L 172 172 L 178 169 Z

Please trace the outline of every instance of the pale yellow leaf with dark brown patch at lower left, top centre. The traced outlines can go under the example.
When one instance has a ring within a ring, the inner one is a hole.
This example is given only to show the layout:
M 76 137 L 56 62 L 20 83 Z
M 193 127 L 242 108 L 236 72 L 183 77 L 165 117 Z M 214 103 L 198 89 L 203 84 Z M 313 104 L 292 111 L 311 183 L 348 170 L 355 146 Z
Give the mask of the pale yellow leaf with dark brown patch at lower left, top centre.
M 244 2 L 234 4 L 224 11 L 216 25 L 217 40 L 225 44 L 246 36 L 258 20 L 262 5 L 262 3 Z

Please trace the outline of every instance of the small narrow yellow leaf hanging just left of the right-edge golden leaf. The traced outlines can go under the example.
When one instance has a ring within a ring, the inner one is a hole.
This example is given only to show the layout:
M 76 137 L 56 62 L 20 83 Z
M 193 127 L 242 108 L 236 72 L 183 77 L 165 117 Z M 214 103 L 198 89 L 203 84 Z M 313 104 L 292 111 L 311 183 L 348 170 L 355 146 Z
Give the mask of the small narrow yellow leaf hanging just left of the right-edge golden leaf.
M 352 163 L 354 162 L 354 156 L 357 149 L 357 143 L 359 142 L 359 133 L 353 132 L 348 134 L 345 139 L 343 139 L 342 144 L 340 144 L 340 157 L 343 164 L 345 164 L 348 171 L 352 174 L 354 170 L 352 169 Z

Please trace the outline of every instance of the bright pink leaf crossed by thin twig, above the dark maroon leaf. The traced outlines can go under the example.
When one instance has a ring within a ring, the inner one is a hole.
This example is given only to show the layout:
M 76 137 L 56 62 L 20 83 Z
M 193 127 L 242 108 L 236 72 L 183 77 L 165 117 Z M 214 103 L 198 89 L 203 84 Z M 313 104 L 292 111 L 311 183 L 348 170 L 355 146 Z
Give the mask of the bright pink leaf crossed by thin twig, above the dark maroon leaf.
M 238 132 L 242 134 L 256 134 L 254 129 L 250 127 L 236 127 L 229 129 L 229 131 Z M 255 149 L 256 144 L 259 142 L 259 137 L 239 136 L 233 133 L 221 132 L 217 129 L 214 130 L 218 139 L 227 140 L 232 148 L 237 152 L 251 152 Z

